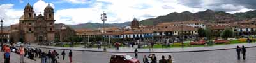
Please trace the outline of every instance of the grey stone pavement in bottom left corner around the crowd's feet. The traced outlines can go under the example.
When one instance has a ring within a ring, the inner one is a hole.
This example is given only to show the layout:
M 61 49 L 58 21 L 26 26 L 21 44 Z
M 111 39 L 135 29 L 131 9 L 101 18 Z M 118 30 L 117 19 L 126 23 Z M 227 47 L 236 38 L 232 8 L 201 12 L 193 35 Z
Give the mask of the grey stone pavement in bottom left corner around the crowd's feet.
M 4 52 L 0 52 L 0 63 L 4 63 L 3 54 L 4 54 Z M 20 62 L 20 56 L 16 53 L 11 52 L 10 58 L 11 58 L 10 63 L 19 63 Z M 28 59 L 26 57 L 24 57 L 24 62 L 25 63 L 41 63 L 41 62 L 36 62 L 34 60 Z

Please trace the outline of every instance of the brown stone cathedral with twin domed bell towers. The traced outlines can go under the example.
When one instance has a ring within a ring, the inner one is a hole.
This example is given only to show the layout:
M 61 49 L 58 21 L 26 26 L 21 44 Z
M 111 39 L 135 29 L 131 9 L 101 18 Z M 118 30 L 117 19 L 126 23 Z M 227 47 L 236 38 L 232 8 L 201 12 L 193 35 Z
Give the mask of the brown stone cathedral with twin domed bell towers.
M 54 42 L 54 9 L 48 4 L 43 15 L 36 15 L 29 3 L 24 8 L 24 14 L 19 20 L 20 38 L 26 42 Z

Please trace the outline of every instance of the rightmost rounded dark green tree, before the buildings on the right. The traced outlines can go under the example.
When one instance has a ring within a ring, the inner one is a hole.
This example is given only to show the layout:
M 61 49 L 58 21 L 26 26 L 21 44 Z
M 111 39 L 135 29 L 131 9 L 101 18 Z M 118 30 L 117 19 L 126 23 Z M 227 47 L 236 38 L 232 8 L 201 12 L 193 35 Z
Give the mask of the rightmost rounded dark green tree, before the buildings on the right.
M 229 37 L 234 37 L 234 32 L 232 30 L 230 30 L 229 28 L 225 28 L 224 31 L 222 31 L 222 33 L 220 34 L 220 37 L 222 38 L 229 38 Z

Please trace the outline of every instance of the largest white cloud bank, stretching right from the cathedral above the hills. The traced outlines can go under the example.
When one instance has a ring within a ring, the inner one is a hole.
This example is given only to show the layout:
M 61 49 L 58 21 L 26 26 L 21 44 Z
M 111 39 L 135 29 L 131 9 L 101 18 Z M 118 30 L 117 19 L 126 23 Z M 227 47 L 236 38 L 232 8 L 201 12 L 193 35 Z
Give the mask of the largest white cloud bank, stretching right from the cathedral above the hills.
M 110 3 L 110 4 L 105 4 Z M 165 6 L 165 7 L 163 7 Z M 167 6 L 171 6 L 167 9 Z M 103 23 L 100 21 L 102 11 L 107 13 L 106 23 L 124 23 L 132 21 L 134 17 L 138 20 L 155 18 L 174 11 L 204 11 L 205 9 L 189 8 L 177 1 L 158 0 L 98 0 L 91 8 L 70 8 L 57 10 L 55 14 L 56 23 L 79 24 L 79 23 Z

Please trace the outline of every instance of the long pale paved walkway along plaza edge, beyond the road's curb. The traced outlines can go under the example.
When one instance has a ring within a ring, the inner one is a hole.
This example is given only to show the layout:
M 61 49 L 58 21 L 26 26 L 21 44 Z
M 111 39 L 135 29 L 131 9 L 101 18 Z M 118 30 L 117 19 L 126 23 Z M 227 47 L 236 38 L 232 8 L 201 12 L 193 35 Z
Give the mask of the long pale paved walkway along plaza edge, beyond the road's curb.
M 231 45 L 215 45 L 215 46 L 206 46 L 206 47 L 184 47 L 184 48 L 159 48 L 159 49 L 138 49 L 139 53 L 175 53 L 175 52 L 202 52 L 202 51 L 212 51 L 212 50 L 227 50 L 227 49 L 236 49 L 236 46 L 245 45 L 245 47 L 256 47 L 256 43 L 239 43 Z M 30 45 L 32 47 L 46 48 L 46 49 L 66 49 L 66 50 L 77 50 L 77 51 L 89 51 L 89 52 L 104 52 L 102 49 L 97 48 L 83 48 L 83 47 L 54 47 L 54 46 L 39 46 L 39 45 Z M 107 48 L 105 52 L 114 52 L 114 53 L 133 53 L 135 48 L 130 47 L 121 47 L 119 50 L 114 48 Z

